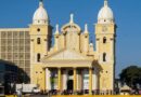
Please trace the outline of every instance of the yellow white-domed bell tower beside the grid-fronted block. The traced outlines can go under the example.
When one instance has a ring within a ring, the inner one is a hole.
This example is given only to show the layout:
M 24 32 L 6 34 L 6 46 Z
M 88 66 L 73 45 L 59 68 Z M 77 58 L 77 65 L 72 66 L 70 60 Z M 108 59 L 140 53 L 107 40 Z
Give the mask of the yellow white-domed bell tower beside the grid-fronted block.
M 39 8 L 36 10 L 33 24 L 29 26 L 30 34 L 30 82 L 38 84 L 40 88 L 44 88 L 42 81 L 44 81 L 41 58 L 48 55 L 51 47 L 52 27 L 49 24 L 49 16 L 43 2 L 40 0 Z

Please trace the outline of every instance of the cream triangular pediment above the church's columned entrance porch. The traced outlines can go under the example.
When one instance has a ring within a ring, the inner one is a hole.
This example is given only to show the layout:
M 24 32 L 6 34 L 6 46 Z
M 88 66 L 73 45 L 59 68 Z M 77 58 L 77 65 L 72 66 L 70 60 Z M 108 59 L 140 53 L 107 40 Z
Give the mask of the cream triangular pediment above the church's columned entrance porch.
M 43 60 L 84 60 L 84 59 L 88 59 L 88 57 L 70 50 L 63 50 L 43 58 Z

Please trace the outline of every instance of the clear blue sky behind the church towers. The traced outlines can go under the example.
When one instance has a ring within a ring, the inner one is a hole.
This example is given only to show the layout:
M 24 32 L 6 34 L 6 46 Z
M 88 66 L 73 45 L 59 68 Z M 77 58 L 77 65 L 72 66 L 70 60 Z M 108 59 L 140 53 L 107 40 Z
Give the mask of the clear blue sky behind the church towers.
M 0 0 L 0 28 L 25 28 L 31 24 L 39 0 Z M 94 43 L 94 24 L 104 0 L 43 0 L 51 25 L 62 27 L 74 13 L 84 30 L 88 24 Z M 116 77 L 131 65 L 141 67 L 141 0 L 108 0 L 117 25 Z M 95 44 L 95 43 L 94 43 Z

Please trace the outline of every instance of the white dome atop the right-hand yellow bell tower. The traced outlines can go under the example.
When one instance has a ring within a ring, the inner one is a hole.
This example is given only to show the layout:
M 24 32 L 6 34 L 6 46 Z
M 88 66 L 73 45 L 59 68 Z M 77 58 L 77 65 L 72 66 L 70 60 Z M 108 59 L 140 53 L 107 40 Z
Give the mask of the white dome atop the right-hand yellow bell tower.
M 98 14 L 99 24 L 111 24 L 114 23 L 114 14 L 112 9 L 107 4 L 107 0 L 104 0 L 104 6 L 100 10 Z

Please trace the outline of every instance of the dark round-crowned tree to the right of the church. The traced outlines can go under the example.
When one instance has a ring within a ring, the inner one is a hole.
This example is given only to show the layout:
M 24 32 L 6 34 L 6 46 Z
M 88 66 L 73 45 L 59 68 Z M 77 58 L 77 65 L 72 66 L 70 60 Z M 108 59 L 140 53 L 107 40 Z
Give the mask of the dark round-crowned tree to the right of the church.
M 126 83 L 131 88 L 137 88 L 137 84 L 141 85 L 141 68 L 137 66 L 130 66 L 123 69 L 119 74 L 121 83 Z

